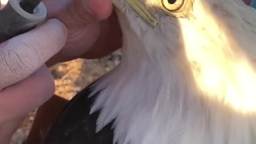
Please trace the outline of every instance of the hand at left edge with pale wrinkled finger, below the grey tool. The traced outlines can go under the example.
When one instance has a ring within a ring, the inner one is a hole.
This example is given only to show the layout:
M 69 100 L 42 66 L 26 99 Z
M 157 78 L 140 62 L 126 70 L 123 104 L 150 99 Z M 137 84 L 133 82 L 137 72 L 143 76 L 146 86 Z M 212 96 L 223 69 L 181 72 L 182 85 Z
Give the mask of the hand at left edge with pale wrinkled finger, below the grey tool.
M 49 20 L 0 44 L 0 143 L 7 144 L 26 115 L 54 93 L 45 61 L 65 45 L 67 29 Z

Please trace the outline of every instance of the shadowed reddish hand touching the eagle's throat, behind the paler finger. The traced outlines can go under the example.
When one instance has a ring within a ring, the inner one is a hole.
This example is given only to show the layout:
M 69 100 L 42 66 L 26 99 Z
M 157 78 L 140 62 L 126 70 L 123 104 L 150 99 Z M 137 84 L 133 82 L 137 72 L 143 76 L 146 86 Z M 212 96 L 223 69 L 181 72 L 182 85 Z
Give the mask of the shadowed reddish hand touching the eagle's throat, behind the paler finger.
M 47 18 L 58 18 L 68 28 L 65 47 L 47 62 L 94 59 L 119 49 L 122 33 L 111 0 L 44 0 Z

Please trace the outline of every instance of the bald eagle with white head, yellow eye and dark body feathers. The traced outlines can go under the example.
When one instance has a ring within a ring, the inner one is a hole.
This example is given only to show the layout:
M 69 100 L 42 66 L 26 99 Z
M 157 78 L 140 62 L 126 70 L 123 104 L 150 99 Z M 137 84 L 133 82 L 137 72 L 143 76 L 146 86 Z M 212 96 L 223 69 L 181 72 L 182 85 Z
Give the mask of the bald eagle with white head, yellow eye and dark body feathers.
M 44 144 L 256 143 L 253 7 L 242 0 L 113 3 L 122 61 L 69 102 Z

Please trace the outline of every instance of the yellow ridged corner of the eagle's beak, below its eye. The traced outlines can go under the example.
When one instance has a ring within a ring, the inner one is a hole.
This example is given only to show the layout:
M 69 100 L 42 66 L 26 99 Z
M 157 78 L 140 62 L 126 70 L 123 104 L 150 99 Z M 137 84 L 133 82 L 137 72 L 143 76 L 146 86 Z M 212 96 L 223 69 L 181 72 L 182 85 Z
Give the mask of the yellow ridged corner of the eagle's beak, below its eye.
M 145 6 L 140 2 L 140 0 L 124 0 L 127 4 L 129 4 L 132 9 L 137 12 L 140 17 L 149 23 L 151 27 L 155 27 L 157 21 L 151 14 L 146 10 Z

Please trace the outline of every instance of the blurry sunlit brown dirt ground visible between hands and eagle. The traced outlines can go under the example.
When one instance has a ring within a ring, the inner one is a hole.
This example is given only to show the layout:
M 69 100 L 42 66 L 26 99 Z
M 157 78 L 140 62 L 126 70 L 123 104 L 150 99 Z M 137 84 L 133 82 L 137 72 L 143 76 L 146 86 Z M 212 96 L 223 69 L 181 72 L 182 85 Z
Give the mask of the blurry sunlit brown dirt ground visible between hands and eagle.
M 121 51 L 116 51 L 101 59 L 76 59 L 51 67 L 56 87 L 55 94 L 68 99 L 73 98 L 85 86 L 118 65 L 120 60 Z M 21 144 L 26 139 L 33 124 L 35 112 L 36 110 L 27 116 L 20 129 L 13 135 L 11 144 Z

